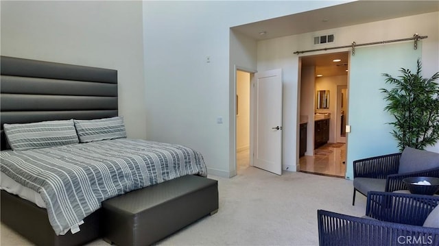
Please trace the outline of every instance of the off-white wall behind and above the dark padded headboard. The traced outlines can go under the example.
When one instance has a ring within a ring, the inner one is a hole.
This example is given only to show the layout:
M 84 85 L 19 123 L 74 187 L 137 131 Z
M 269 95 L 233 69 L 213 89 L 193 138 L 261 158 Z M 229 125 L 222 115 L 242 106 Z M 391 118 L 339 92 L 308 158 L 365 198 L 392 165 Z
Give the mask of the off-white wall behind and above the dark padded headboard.
M 1 56 L 116 69 L 119 115 L 146 138 L 141 1 L 1 1 Z

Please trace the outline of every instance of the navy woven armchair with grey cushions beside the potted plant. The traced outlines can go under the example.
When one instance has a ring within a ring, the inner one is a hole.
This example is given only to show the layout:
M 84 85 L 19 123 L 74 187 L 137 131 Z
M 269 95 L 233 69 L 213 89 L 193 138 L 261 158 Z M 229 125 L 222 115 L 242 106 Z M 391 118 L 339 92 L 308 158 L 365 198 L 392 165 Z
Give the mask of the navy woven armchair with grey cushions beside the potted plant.
M 439 153 L 407 147 L 403 153 L 375 156 L 353 162 L 354 192 L 407 190 L 405 177 L 439 177 Z

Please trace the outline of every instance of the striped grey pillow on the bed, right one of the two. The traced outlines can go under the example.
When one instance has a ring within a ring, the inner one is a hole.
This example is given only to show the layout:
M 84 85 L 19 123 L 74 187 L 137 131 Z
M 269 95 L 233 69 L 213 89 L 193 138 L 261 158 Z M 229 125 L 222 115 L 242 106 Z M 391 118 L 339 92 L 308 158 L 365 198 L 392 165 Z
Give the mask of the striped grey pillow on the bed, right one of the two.
M 125 125 L 120 116 L 96 119 L 96 120 L 74 120 L 76 132 L 81 143 L 88 143 L 99 140 L 126 138 Z

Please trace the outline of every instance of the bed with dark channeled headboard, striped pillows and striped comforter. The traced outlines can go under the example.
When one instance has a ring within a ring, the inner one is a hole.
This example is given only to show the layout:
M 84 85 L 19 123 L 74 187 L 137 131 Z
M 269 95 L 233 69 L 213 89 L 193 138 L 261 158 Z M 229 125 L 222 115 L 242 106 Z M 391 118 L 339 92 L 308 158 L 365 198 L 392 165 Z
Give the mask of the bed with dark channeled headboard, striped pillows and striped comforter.
M 37 245 L 82 245 L 101 237 L 102 201 L 184 175 L 206 177 L 193 149 L 127 139 L 117 106 L 115 70 L 1 57 L 3 223 Z M 62 139 L 29 140 L 41 127 L 59 128 Z

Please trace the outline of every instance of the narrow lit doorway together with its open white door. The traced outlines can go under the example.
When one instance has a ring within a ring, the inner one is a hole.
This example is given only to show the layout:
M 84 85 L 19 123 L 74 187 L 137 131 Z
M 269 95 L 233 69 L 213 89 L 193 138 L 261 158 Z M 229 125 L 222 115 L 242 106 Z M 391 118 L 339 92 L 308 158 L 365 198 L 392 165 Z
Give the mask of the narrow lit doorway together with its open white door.
M 245 169 L 252 166 L 282 175 L 282 70 L 241 72 L 236 71 L 235 151 L 250 150 Z M 240 82 L 241 75 L 245 82 Z

